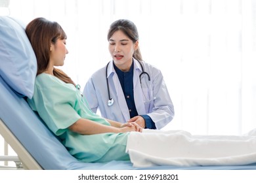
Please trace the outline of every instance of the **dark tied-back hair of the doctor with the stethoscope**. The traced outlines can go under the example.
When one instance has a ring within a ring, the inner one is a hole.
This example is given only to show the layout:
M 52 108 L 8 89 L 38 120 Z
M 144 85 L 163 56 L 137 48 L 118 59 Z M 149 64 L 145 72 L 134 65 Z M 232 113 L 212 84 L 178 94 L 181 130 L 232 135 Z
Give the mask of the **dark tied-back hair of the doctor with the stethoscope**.
M 108 30 L 108 41 L 110 40 L 110 37 L 116 32 L 116 31 L 122 31 L 133 43 L 136 41 L 139 41 L 139 33 L 137 30 L 136 25 L 131 22 L 131 20 L 126 20 L 126 19 L 119 19 L 113 22 L 110 25 L 110 29 Z M 133 53 L 133 58 L 142 61 L 142 56 L 140 53 L 140 48 L 135 50 Z

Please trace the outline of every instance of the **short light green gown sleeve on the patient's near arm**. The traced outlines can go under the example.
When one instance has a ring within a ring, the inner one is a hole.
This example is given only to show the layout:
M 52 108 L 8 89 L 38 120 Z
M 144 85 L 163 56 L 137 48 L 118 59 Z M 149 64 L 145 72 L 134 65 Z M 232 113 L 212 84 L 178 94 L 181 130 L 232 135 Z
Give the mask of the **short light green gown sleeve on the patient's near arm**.
M 55 135 L 62 135 L 81 116 L 75 110 L 75 87 L 54 76 L 37 76 L 33 98 L 28 103 Z

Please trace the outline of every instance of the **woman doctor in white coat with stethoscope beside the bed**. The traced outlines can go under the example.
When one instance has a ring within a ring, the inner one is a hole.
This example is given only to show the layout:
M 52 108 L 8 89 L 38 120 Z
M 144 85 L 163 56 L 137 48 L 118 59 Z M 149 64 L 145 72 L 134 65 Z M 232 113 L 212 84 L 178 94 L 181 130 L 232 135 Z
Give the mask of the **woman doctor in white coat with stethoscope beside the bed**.
M 110 120 L 161 129 L 173 120 L 173 103 L 161 71 L 142 61 L 136 25 L 123 19 L 113 22 L 108 42 L 112 61 L 83 90 L 89 106 Z

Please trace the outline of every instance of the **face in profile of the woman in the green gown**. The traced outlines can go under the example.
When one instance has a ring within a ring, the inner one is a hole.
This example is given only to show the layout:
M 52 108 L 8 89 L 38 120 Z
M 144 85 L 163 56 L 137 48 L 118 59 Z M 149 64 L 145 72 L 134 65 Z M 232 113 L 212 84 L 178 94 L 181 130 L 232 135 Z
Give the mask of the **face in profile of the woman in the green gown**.
M 68 54 L 66 39 L 57 39 L 55 44 L 51 44 L 50 62 L 54 66 L 64 65 L 66 54 Z

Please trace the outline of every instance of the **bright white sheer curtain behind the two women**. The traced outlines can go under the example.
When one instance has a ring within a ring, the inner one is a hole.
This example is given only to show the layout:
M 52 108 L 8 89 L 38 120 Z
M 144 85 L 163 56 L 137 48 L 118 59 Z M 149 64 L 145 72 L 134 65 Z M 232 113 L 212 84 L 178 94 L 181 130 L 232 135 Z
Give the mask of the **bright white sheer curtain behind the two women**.
M 26 24 L 43 16 L 68 35 L 62 69 L 77 84 L 110 60 L 106 35 L 135 22 L 143 59 L 161 69 L 175 106 L 165 129 L 239 135 L 256 127 L 256 1 L 11 0 Z M 106 89 L 107 92 L 107 89 Z

